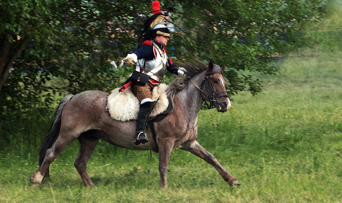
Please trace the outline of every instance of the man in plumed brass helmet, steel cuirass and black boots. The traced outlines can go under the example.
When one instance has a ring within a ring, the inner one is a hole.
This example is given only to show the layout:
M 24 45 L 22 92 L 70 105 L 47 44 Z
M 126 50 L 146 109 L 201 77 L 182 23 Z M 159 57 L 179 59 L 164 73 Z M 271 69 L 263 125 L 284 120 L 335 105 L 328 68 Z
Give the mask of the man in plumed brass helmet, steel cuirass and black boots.
M 163 24 L 163 19 L 168 15 L 166 12 L 162 14 L 159 7 L 159 1 L 152 3 L 153 15 L 145 20 L 144 29 L 141 31 L 139 40 L 143 38 L 144 42 L 140 44 L 138 49 L 128 54 L 124 61 L 129 65 L 136 65 L 135 73 L 122 85 L 119 92 L 126 90 L 129 86 L 140 102 L 140 109 L 136 124 L 136 140 L 134 144 L 146 143 L 149 139 L 146 137 L 144 130 L 156 101 L 152 101 L 152 89 L 162 82 L 165 71 L 183 75 L 184 69 L 177 66 L 169 58 L 165 46 L 171 37 L 168 28 Z M 141 68 L 143 67 L 143 69 Z M 145 69 L 145 70 L 144 70 Z M 147 71 L 146 71 L 147 70 Z M 143 76 L 148 75 L 146 84 L 138 84 Z

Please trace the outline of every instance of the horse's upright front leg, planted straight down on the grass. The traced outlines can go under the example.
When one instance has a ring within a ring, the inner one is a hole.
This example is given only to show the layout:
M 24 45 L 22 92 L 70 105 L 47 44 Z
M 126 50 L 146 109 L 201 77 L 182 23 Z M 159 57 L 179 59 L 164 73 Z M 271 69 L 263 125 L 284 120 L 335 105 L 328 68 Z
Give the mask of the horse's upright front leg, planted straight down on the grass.
M 167 173 L 169 168 L 170 154 L 173 149 L 173 139 L 160 140 L 159 145 L 159 173 L 160 173 L 160 187 L 165 188 L 168 186 Z

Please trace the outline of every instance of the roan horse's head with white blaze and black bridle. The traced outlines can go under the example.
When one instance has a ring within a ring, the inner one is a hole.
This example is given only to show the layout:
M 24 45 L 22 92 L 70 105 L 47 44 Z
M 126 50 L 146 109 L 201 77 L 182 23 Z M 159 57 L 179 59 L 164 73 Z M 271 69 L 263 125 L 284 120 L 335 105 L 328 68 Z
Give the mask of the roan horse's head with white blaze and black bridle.
M 224 66 L 214 65 L 210 61 L 200 87 L 202 98 L 209 101 L 208 109 L 215 107 L 218 112 L 226 112 L 231 107 L 231 101 L 225 88 L 226 82 L 222 76 L 223 70 Z

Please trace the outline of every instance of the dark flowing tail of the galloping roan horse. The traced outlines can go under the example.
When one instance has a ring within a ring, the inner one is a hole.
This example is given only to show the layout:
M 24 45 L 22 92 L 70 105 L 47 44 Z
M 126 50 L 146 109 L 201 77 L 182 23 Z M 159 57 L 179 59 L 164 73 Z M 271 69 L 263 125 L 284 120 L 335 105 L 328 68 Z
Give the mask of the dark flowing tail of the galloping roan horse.
M 68 103 L 70 99 L 73 98 L 73 96 L 74 95 L 70 94 L 64 97 L 56 109 L 55 118 L 53 119 L 53 122 L 51 123 L 51 128 L 39 147 L 39 168 L 41 167 L 43 163 L 46 151 L 52 147 L 53 142 L 56 140 L 58 133 L 60 132 L 61 115 L 62 115 L 63 108 L 66 105 L 66 103 Z M 49 167 L 44 174 L 42 182 L 46 181 L 47 179 L 50 179 Z

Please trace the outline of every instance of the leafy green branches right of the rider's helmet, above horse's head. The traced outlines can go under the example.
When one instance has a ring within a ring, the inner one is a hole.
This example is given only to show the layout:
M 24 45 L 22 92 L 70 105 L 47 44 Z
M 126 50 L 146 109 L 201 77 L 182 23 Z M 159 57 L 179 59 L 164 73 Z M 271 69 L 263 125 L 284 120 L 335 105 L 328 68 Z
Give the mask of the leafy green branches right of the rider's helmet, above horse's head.
M 277 73 L 279 67 L 271 56 L 284 55 L 311 43 L 310 36 L 302 29 L 306 21 L 319 19 L 325 1 L 184 1 L 180 4 L 177 23 L 183 35 L 173 39 L 176 56 L 196 56 L 226 64 L 224 76 L 228 92 L 245 90 L 255 95 L 261 92 L 261 83 L 241 71 Z M 183 49 L 188 52 L 183 53 Z

